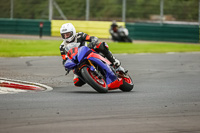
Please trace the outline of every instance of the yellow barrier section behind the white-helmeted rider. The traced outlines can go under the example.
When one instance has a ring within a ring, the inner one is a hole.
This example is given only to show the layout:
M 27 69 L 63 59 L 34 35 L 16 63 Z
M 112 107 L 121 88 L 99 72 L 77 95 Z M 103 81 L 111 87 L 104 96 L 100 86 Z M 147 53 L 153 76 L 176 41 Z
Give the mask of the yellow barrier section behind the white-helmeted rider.
M 106 21 L 72 21 L 72 20 L 52 20 L 51 21 L 51 35 L 60 36 L 60 27 L 64 23 L 72 23 L 76 28 L 76 32 L 84 32 L 91 36 L 98 38 L 109 38 L 109 28 L 112 22 Z M 119 25 L 124 26 L 124 22 L 118 22 Z

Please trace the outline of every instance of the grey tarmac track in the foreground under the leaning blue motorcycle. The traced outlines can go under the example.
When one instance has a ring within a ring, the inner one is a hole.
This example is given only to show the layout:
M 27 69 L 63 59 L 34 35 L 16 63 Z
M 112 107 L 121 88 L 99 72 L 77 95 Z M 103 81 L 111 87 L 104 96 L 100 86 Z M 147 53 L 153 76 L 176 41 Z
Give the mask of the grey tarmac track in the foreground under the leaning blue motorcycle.
M 0 133 L 200 133 L 200 53 L 115 55 L 132 92 L 73 86 L 61 57 L 0 58 L 0 77 L 54 89 L 0 95 Z

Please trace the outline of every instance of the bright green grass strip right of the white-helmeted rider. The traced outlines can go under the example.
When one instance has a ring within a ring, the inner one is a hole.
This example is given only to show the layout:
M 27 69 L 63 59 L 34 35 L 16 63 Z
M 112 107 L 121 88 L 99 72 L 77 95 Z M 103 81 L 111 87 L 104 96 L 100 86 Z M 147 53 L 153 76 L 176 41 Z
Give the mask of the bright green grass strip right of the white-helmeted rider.
M 169 42 L 155 43 L 118 43 L 109 45 L 113 53 L 167 53 L 200 51 L 199 44 L 180 44 Z

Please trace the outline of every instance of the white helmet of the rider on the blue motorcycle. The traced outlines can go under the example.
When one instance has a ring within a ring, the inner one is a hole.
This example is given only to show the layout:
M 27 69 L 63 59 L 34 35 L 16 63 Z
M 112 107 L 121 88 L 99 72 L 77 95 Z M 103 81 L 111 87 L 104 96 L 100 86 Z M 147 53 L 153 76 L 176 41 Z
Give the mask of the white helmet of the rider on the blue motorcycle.
M 60 28 L 60 34 L 67 43 L 73 41 L 76 35 L 76 29 L 74 28 L 73 24 L 71 23 L 66 23 L 63 24 Z M 66 36 L 66 34 L 68 34 Z

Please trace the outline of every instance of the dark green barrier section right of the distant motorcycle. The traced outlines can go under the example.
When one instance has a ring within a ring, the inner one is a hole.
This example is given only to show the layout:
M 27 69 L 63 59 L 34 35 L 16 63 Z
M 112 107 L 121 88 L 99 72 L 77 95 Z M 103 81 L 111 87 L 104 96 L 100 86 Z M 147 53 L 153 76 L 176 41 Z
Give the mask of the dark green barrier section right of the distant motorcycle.
M 134 40 L 199 43 L 199 26 L 184 24 L 126 23 Z

